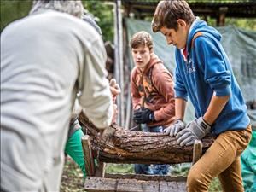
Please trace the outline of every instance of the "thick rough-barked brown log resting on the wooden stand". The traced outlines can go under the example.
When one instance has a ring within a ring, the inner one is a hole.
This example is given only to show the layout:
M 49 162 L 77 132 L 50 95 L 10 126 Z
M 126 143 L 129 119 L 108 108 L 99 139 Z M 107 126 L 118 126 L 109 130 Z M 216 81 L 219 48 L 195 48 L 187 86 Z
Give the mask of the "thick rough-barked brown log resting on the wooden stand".
M 144 164 L 177 164 L 191 162 L 193 146 L 181 147 L 177 139 L 165 133 L 129 131 L 118 125 L 113 138 L 107 143 L 102 141 L 96 129 L 84 113 L 79 121 L 90 135 L 92 150 L 97 152 L 99 160 L 108 163 L 144 163 Z M 214 137 L 202 139 L 202 153 L 213 143 Z M 96 154 L 96 153 L 95 153 Z

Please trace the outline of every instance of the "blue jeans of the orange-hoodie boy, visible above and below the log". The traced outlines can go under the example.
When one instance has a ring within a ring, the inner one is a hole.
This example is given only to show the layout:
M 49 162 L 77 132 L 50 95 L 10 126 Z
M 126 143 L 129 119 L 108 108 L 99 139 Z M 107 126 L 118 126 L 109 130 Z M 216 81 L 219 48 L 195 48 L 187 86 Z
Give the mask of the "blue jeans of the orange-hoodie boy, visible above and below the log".
M 162 126 L 148 127 L 141 125 L 144 132 L 163 132 Z M 136 174 L 145 175 L 166 175 L 169 172 L 169 165 L 148 165 L 148 164 L 135 164 L 134 171 Z

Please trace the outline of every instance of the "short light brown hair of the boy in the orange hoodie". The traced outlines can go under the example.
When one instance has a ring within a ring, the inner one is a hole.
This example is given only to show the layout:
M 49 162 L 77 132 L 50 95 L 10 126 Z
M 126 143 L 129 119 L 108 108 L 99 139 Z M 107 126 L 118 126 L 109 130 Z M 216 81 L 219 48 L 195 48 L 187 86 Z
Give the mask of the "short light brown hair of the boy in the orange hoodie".
M 153 49 L 153 41 L 152 41 L 152 37 L 148 32 L 137 32 L 135 33 L 130 41 L 130 46 L 131 49 L 136 49 L 137 47 L 139 47 L 140 45 L 144 45 L 147 46 L 150 49 Z

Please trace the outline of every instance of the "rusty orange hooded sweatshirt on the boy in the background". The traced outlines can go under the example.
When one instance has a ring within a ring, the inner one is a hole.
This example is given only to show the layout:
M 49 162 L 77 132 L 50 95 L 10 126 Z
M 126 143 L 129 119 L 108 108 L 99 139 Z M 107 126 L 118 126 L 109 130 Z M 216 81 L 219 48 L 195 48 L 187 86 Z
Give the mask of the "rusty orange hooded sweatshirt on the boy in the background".
M 131 99 L 133 109 L 138 105 L 154 111 L 154 122 L 148 126 L 168 126 L 175 119 L 174 83 L 172 74 L 163 61 L 152 55 L 148 65 L 141 71 L 134 67 L 131 71 Z M 143 101 L 144 100 L 144 101 Z

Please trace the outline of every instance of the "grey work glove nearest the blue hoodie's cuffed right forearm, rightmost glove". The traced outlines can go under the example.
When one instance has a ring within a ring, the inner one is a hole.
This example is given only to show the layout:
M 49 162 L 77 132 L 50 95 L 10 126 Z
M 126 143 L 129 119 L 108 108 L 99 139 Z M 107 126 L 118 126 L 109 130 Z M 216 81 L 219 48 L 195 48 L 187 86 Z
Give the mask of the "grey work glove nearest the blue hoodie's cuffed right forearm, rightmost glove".
M 211 125 L 202 118 L 195 119 L 186 126 L 185 129 L 177 133 L 177 144 L 180 146 L 189 146 L 195 142 L 195 139 L 201 139 L 211 131 Z

